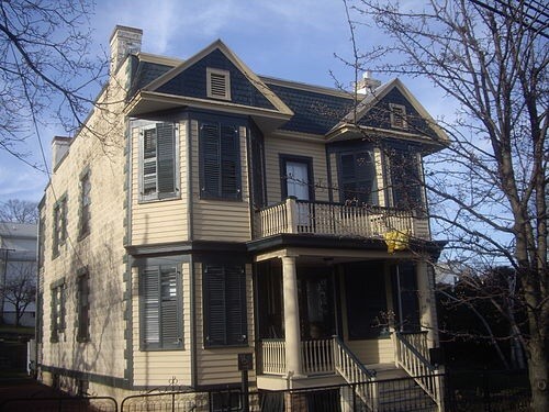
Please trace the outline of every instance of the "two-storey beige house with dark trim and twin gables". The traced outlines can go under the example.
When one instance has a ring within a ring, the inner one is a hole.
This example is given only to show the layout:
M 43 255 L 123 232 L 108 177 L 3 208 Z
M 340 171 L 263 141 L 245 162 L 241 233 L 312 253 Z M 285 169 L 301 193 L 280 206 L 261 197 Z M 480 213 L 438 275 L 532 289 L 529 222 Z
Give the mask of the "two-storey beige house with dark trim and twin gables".
M 261 392 L 432 370 L 422 158 L 447 137 L 408 89 L 261 77 L 221 41 L 156 56 L 142 34 L 115 27 L 97 108 L 53 141 L 42 380 L 238 387 L 243 354 Z

